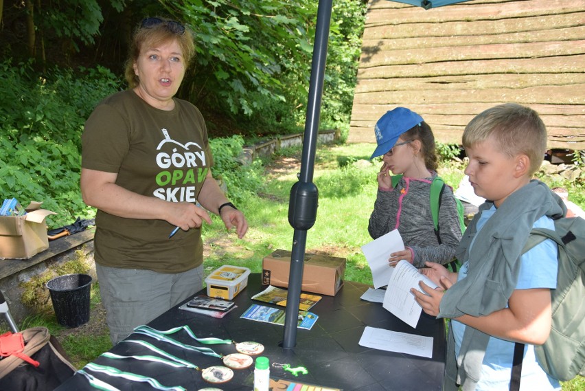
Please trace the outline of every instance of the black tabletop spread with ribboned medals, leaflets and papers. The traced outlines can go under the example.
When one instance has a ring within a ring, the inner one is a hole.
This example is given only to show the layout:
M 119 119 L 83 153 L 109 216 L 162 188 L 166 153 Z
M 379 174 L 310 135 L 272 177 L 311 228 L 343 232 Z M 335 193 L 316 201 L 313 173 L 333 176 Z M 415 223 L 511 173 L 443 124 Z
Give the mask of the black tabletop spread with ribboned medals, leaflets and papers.
M 279 347 L 284 333 L 283 326 L 240 319 L 240 315 L 253 302 L 270 305 L 251 300 L 251 296 L 265 288 L 266 286 L 260 283 L 260 274 L 251 274 L 248 287 L 233 298 L 238 308 L 224 318 L 216 319 L 175 308 L 157 317 L 148 326 L 164 331 L 176 326 L 188 325 L 200 338 L 218 337 L 233 339 L 236 342 L 260 342 L 265 347 L 262 355 L 268 357 L 271 364 L 305 366 L 309 371 L 308 375 L 295 377 L 281 368 L 271 367 L 271 379 L 274 380 L 288 379 L 298 383 L 343 390 L 441 390 L 445 366 L 443 320 L 436 320 L 423 313 L 417 328 L 411 328 L 382 308 L 382 304 L 360 300 L 360 296 L 368 289 L 367 285 L 346 281 L 336 296 L 323 295 L 323 299 L 312 307 L 310 311 L 319 315 L 319 320 L 310 331 L 298 329 L 295 348 L 284 349 Z M 206 292 L 203 290 L 200 293 Z M 433 358 L 427 359 L 359 346 L 358 342 L 365 326 L 433 337 Z M 180 340 L 183 344 L 204 346 L 187 337 L 185 331 L 173 334 L 171 337 Z M 199 368 L 222 365 L 221 360 L 216 357 L 158 342 L 146 335 L 133 334 L 128 339 L 143 339 L 176 357 L 196 364 Z M 222 355 L 236 353 L 233 345 L 208 347 Z M 117 355 L 153 354 L 138 344 L 125 342 L 120 342 L 110 352 Z M 93 362 L 152 377 L 164 386 L 183 386 L 189 391 L 205 387 L 216 387 L 221 390 L 251 390 L 253 388 L 253 366 L 244 370 L 234 370 L 231 381 L 214 386 L 203 381 L 200 372 L 189 368 L 174 369 L 159 363 L 133 359 L 114 360 L 102 356 Z M 147 383 L 130 382 L 88 372 L 120 390 L 153 390 Z M 85 377 L 76 374 L 56 390 L 80 391 L 95 390 L 95 388 L 89 385 Z

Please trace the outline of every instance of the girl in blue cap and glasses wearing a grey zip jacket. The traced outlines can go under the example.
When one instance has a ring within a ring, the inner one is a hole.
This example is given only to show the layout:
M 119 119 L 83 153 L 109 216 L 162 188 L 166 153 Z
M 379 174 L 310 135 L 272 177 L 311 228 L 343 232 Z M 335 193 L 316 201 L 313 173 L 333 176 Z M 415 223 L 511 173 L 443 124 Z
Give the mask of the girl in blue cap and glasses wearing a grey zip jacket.
M 371 159 L 382 157 L 378 194 L 369 218 L 374 239 L 398 229 L 405 249 L 391 254 L 391 266 L 402 259 L 415 267 L 453 260 L 461 226 L 452 189 L 445 186 L 439 208 L 439 234 L 431 216 L 431 182 L 437 176 L 435 137 L 417 113 L 397 107 L 382 115 L 374 129 L 378 146 Z M 392 175 L 402 178 L 393 186 Z

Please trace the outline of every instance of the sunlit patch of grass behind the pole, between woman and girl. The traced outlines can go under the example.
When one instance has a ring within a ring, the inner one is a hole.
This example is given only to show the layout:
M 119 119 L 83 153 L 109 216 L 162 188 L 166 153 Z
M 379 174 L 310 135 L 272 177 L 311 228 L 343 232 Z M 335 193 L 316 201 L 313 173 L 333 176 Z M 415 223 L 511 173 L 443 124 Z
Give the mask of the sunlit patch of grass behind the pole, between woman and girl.
M 307 232 L 306 243 L 306 252 L 347 258 L 345 278 L 366 284 L 371 284 L 371 275 L 360 246 L 371 241 L 367 221 L 376 197 L 377 184 L 372 178 L 376 177 L 377 167 L 365 161 L 361 168 L 353 164 L 340 168 L 337 160 L 348 155 L 356 157 L 352 161 L 367 159 L 370 149 L 369 144 L 357 144 L 319 150 L 313 177 L 319 189 L 319 207 L 317 220 Z M 299 150 L 289 153 L 300 155 Z M 214 219 L 214 224 L 205 227 L 204 243 L 212 248 L 214 245 L 224 248 L 205 258 L 207 272 L 227 263 L 260 273 L 264 256 L 275 249 L 292 248 L 294 230 L 288 223 L 288 199 L 300 171 L 295 160 L 286 159 L 289 166 L 280 167 L 277 175 L 268 175 L 266 186 L 257 197 L 251 197 L 245 205 L 238 205 L 250 223 L 249 232 L 242 241 L 231 234 L 229 241 L 224 239 L 215 244 L 215 238 L 222 236 L 221 223 Z

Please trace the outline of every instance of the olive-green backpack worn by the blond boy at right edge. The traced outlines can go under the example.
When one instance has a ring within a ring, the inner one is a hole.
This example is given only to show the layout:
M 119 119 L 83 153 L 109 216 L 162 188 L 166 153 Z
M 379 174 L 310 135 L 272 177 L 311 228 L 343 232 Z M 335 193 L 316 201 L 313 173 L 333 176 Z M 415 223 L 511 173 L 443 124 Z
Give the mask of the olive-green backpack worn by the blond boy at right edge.
M 585 376 L 585 220 L 555 220 L 555 230 L 535 228 L 523 252 L 552 239 L 558 244 L 557 289 L 551 289 L 553 322 L 547 342 L 535 346 L 545 372 L 560 381 Z

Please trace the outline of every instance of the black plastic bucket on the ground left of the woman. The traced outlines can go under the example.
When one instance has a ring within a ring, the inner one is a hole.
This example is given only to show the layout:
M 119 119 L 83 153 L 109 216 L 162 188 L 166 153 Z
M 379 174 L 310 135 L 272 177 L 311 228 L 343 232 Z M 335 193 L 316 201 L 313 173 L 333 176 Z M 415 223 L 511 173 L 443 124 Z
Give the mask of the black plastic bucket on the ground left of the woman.
M 51 302 L 61 326 L 73 328 L 89 322 L 91 276 L 66 274 L 47 282 Z

